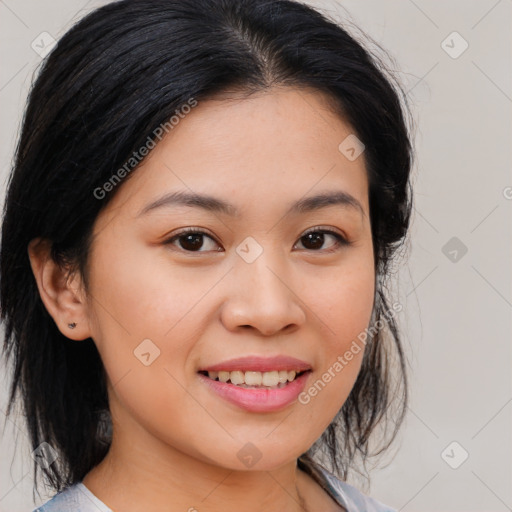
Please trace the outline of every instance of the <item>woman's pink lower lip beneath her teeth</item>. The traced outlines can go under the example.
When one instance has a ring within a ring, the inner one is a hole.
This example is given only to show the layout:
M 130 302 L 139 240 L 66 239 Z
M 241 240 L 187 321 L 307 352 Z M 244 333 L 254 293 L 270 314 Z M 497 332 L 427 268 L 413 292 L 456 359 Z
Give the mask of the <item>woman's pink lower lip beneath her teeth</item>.
M 217 395 L 241 409 L 250 412 L 272 412 L 283 409 L 297 399 L 310 373 L 311 371 L 304 372 L 283 388 L 276 389 L 242 388 L 227 382 L 212 380 L 202 373 L 198 375 Z

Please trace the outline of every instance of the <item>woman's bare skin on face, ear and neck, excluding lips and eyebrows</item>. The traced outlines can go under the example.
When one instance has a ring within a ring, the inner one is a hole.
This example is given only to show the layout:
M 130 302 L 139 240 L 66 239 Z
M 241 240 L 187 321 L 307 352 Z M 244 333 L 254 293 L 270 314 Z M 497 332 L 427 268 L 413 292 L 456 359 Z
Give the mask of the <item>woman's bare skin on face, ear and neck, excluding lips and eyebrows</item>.
M 312 366 L 307 389 L 368 326 L 375 274 L 364 154 L 350 161 L 338 150 L 351 133 L 317 91 L 199 102 L 98 216 L 89 293 L 79 275 L 64 278 L 44 243 L 30 244 L 46 308 L 70 339 L 91 337 L 106 368 L 113 442 L 84 484 L 113 510 L 292 512 L 303 510 L 300 497 L 309 511 L 341 510 L 296 459 L 345 402 L 362 350 L 309 403 L 276 412 L 224 401 L 197 371 L 285 354 Z M 189 206 L 138 216 L 175 190 L 229 201 L 240 217 Z M 332 190 L 363 211 L 285 215 Z M 207 232 L 195 252 L 183 237 L 165 243 L 185 227 Z M 317 227 L 352 244 L 329 234 L 308 243 L 304 232 Z M 236 252 L 248 236 L 263 248 L 250 264 Z M 144 339 L 160 350 L 149 366 L 134 355 Z M 251 468 L 237 457 L 248 442 L 261 453 Z

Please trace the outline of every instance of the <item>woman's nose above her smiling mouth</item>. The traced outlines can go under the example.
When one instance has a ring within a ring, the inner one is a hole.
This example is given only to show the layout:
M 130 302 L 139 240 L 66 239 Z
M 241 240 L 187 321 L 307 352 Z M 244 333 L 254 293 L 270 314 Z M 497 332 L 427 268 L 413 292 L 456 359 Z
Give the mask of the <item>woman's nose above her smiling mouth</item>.
M 253 328 L 263 336 L 294 332 L 306 320 L 293 269 L 264 251 L 252 263 L 239 259 L 230 272 L 221 311 L 230 331 Z

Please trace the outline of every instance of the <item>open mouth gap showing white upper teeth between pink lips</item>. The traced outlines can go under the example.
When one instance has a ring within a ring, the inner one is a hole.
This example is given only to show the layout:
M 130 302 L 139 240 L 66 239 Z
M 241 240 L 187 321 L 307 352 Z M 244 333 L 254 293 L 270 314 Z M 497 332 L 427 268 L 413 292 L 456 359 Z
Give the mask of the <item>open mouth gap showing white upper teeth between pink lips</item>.
M 270 372 L 257 371 L 206 371 L 198 373 L 205 377 L 226 384 L 246 389 L 282 389 L 311 370 L 273 370 Z

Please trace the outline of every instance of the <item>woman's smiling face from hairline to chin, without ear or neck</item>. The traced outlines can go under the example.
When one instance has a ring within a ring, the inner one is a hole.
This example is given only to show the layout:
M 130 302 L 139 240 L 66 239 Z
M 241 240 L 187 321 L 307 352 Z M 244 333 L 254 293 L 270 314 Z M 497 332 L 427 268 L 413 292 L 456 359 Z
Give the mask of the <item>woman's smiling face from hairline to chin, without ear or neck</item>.
M 114 432 L 267 470 L 320 437 L 356 380 L 363 350 L 344 355 L 375 291 L 364 155 L 338 148 L 352 133 L 314 91 L 199 102 L 118 185 L 94 228 L 87 313 Z M 273 390 L 200 373 L 275 386 L 295 367 Z

